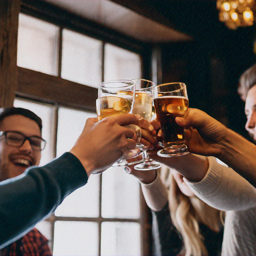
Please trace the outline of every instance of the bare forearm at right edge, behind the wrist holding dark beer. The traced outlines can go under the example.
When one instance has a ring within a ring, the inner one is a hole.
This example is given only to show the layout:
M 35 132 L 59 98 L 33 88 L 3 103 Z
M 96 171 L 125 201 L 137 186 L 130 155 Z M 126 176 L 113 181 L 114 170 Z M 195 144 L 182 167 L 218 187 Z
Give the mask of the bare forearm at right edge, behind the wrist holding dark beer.
M 217 157 L 255 187 L 256 145 L 228 129 Z

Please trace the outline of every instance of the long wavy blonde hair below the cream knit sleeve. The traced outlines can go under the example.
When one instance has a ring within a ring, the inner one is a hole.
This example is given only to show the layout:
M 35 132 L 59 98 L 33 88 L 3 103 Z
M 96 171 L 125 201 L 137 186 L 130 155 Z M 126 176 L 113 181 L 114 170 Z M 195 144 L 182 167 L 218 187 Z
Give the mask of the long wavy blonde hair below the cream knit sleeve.
M 169 209 L 173 225 L 180 232 L 183 248 L 179 255 L 207 256 L 204 237 L 200 234 L 199 222 L 219 231 L 223 212 L 212 208 L 198 197 L 184 195 L 167 168 L 161 170 L 161 178 L 169 191 Z

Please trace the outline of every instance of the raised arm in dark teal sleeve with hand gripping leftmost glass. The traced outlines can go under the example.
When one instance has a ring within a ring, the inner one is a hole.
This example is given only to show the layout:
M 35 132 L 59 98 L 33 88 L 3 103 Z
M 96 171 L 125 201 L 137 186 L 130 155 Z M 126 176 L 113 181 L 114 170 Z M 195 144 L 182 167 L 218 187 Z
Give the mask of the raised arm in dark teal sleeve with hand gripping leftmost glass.
M 127 148 L 133 149 L 135 132 L 122 125 L 135 123 L 138 118 L 133 114 L 106 117 L 99 122 L 88 118 L 70 152 L 0 182 L 0 248 L 52 214 L 65 196 L 87 182 L 91 173 L 104 171 Z

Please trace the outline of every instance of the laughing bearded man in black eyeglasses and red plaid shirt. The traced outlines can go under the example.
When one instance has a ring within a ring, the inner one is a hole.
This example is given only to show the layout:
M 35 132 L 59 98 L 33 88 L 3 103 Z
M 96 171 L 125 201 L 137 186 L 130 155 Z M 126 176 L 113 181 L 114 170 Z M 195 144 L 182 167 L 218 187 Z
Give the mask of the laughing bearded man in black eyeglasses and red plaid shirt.
M 28 109 L 5 108 L 0 113 L 0 181 L 38 165 L 46 141 L 41 137 L 41 119 Z M 0 255 L 51 255 L 48 240 L 33 228 L 0 250 Z

